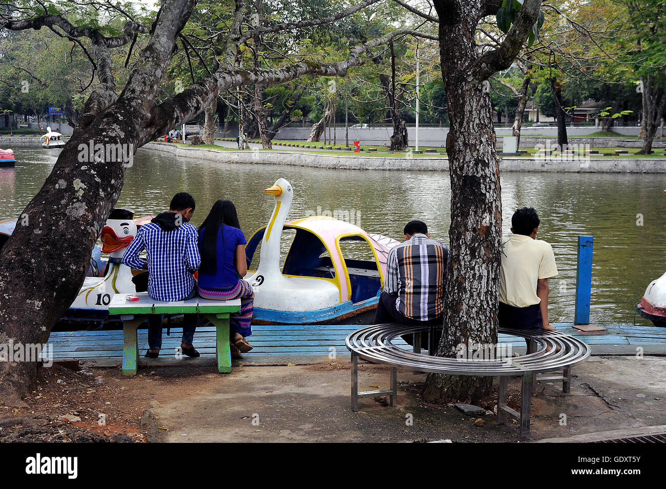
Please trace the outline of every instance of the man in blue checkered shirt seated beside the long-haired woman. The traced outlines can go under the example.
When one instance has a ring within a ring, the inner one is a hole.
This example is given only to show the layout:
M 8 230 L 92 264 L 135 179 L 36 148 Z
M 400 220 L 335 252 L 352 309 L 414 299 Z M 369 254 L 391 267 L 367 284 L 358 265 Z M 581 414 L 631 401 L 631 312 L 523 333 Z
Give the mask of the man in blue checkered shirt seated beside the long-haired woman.
M 194 214 L 194 198 L 180 192 L 172 198 L 168 212 L 158 214 L 144 224 L 127 247 L 123 263 L 134 269 L 148 266 L 148 293 L 156 301 L 182 301 L 196 297 L 196 282 L 192 273 L 198 269 L 201 257 L 198 232 L 189 224 Z M 147 259 L 139 258 L 146 250 Z M 162 347 L 161 314 L 149 315 L 147 357 L 157 358 Z M 186 314 L 182 320 L 182 353 L 198 357 L 192 346 L 196 314 Z

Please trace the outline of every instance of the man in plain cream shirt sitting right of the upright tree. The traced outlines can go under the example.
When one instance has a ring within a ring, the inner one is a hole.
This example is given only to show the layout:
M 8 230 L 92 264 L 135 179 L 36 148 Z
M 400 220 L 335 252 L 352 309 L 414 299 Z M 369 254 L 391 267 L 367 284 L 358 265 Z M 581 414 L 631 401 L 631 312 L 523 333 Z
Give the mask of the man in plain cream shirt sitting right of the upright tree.
M 554 330 L 548 323 L 548 279 L 557 275 L 553 248 L 535 239 L 539 216 L 533 208 L 513 213 L 511 235 L 502 244 L 500 327 Z

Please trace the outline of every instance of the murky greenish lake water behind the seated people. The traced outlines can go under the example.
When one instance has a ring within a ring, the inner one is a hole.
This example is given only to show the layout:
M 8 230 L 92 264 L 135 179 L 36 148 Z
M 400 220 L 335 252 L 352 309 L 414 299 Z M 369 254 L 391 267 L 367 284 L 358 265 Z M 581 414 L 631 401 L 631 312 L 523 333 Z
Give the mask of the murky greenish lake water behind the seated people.
M 16 218 L 39 191 L 57 158 L 51 151 L 18 148 L 16 168 L 0 168 L 0 220 Z M 397 240 L 406 222 L 419 219 L 432 238 L 448 243 L 450 179 L 440 172 L 219 164 L 139 150 L 118 206 L 133 208 L 137 217 L 154 215 L 168 208 L 176 192 L 190 192 L 196 199 L 192 224 L 198 225 L 215 200 L 226 198 L 236 204 L 249 239 L 267 224 L 274 201 L 263 190 L 280 177 L 294 188 L 290 219 L 350 212 L 366 231 Z M 549 281 L 551 321 L 573 321 L 577 236 L 589 235 L 591 321 L 633 323 L 635 303 L 666 270 L 666 174 L 505 173 L 501 186 L 505 233 L 513 211 L 532 206 L 541 218 L 538 238 L 553 245 L 559 276 Z M 640 315 L 635 321 L 651 325 Z

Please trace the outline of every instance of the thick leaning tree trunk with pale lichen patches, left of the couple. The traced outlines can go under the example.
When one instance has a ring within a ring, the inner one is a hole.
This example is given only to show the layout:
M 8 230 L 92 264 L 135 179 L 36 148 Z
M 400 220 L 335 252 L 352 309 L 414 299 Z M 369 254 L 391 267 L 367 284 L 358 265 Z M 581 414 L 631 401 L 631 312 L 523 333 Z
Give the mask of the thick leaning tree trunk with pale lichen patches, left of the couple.
M 130 156 L 167 124 L 147 114 L 192 7 L 194 1 L 163 5 L 141 54 L 145 63 L 137 65 L 118 99 L 108 51 L 94 47 L 100 83 L 51 174 L 21 213 L 21 226 L 0 251 L 0 343 L 45 343 L 83 285 L 91 249 L 123 188 L 130 164 L 123 153 Z M 168 116 L 183 115 L 185 105 L 174 104 Z M 112 155 L 111 148 L 120 148 L 121 155 Z M 34 361 L 0 362 L 0 405 L 24 405 L 36 375 Z

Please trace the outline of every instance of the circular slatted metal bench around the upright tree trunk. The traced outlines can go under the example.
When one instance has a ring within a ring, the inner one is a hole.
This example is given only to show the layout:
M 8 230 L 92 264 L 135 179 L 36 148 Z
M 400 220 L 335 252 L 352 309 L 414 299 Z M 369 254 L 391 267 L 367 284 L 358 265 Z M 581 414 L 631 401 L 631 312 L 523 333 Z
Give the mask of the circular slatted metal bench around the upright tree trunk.
M 444 358 L 421 353 L 418 347 L 409 351 L 393 344 L 396 337 L 414 335 L 414 345 L 420 345 L 418 335 L 428 333 L 432 348 L 434 333 L 442 326 L 406 325 L 385 323 L 358 329 L 346 338 L 346 345 L 352 354 L 352 411 L 358 410 L 360 397 L 389 395 L 391 405 L 396 406 L 398 387 L 396 368 L 402 367 L 414 371 L 441 373 L 449 375 L 479 375 L 499 377 L 498 424 L 510 414 L 520 421 L 521 438 L 529 437 L 529 411 L 531 394 L 537 380 L 562 381 L 562 392 L 569 393 L 571 383 L 571 365 L 589 357 L 591 350 L 584 341 L 560 333 L 543 329 L 506 329 L 499 328 L 498 333 L 523 337 L 527 342 L 527 354 L 521 357 L 501 357 L 490 359 Z M 389 365 L 391 368 L 391 388 L 388 390 L 358 392 L 358 358 Z M 562 370 L 562 375 L 538 377 L 537 374 Z M 521 409 L 517 412 L 509 408 L 507 401 L 508 377 L 522 377 Z

